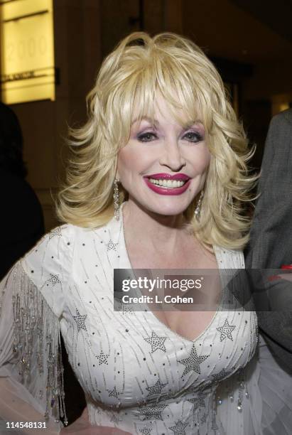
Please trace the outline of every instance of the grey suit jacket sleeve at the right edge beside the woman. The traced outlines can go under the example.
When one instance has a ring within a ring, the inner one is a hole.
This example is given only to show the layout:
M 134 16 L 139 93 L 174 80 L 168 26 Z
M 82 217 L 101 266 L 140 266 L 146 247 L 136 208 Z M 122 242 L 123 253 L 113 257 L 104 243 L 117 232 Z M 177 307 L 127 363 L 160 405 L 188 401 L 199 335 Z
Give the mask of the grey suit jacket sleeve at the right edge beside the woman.
M 292 367 L 292 284 L 268 281 L 269 269 L 292 263 L 292 110 L 274 117 L 266 139 L 259 199 L 246 252 L 247 269 L 261 269 L 266 289 L 258 299 L 259 327 L 279 363 Z M 253 291 L 256 289 L 254 281 Z M 268 299 L 268 304 L 263 298 Z M 269 305 L 270 311 L 261 311 Z

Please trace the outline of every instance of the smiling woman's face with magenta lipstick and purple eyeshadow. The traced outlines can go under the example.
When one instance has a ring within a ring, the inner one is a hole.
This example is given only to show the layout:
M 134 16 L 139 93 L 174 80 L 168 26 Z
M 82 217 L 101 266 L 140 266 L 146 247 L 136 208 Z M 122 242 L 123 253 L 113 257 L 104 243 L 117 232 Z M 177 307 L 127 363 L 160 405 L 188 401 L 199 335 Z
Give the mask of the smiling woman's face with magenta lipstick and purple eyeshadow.
M 160 215 L 188 208 L 205 183 L 210 152 L 200 122 L 182 127 L 158 95 L 151 119 L 131 125 L 129 142 L 119 151 L 117 176 L 133 199 Z

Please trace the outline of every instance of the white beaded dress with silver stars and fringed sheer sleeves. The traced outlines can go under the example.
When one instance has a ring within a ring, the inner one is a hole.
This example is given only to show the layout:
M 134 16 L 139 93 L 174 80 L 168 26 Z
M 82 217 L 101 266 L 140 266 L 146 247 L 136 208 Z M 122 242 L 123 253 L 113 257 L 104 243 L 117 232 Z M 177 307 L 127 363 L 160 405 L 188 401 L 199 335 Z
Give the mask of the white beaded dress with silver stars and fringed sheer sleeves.
M 220 269 L 244 267 L 242 252 L 215 254 Z M 151 310 L 114 311 L 119 268 L 131 269 L 122 218 L 57 227 L 14 265 L 0 289 L 0 380 L 14 398 L 60 432 L 62 333 L 92 424 L 135 435 L 292 433 L 291 377 L 258 340 L 254 311 L 219 306 L 189 340 Z

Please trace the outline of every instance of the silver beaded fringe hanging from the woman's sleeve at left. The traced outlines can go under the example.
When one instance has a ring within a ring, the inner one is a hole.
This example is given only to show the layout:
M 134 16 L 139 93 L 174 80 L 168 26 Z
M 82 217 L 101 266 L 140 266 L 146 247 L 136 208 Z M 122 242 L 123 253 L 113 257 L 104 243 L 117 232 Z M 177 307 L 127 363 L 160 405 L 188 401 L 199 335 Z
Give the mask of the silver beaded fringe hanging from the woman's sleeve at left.
M 56 422 L 62 418 L 67 426 L 58 318 L 20 263 L 12 273 L 13 353 L 18 360 L 21 382 L 30 382 L 32 376 L 45 377 L 46 391 L 38 392 L 39 399 L 46 395 L 44 417 L 48 419 L 51 414 Z

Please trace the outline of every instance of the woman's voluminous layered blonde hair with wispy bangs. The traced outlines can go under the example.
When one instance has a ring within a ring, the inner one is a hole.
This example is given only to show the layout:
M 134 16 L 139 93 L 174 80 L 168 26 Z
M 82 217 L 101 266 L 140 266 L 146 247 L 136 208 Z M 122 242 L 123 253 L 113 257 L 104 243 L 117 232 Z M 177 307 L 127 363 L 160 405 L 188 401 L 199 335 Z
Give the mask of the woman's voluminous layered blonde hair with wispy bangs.
M 131 33 L 104 59 L 87 96 L 89 119 L 70 129 L 71 158 L 58 193 L 58 218 L 82 227 L 99 227 L 112 218 L 119 149 L 129 141 L 134 107 L 139 119 L 153 117 L 156 92 L 176 119 L 176 109 L 183 109 L 190 121 L 200 117 L 205 127 L 211 161 L 200 218 L 193 217 L 198 197 L 185 210 L 196 237 L 205 245 L 242 248 L 248 240 L 242 204 L 254 183 L 247 171 L 252 153 L 216 68 L 198 45 L 174 33 L 153 38 Z M 125 197 L 122 189 L 121 200 Z

